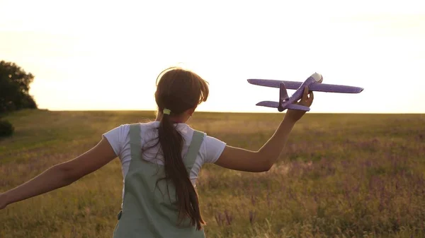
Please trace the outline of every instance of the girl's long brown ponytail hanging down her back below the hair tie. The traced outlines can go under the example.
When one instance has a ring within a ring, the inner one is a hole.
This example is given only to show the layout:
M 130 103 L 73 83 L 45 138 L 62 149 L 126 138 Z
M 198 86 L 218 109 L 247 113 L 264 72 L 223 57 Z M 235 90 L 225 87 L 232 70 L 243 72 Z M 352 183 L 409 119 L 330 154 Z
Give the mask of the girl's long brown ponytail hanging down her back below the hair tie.
M 158 137 L 164 155 L 165 179 L 170 179 L 176 188 L 179 224 L 183 218 L 188 217 L 191 219 L 191 225 L 196 225 L 196 229 L 201 230 L 205 221 L 200 215 L 198 194 L 181 157 L 183 137 L 170 119 L 171 111 L 164 109 L 163 112 Z

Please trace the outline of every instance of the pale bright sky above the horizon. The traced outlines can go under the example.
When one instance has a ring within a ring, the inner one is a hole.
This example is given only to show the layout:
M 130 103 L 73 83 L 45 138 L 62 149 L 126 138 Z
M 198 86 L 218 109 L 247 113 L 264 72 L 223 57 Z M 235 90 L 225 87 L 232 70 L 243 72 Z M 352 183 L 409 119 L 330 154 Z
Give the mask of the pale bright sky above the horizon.
M 0 0 L 0 60 L 50 110 L 156 109 L 180 65 L 210 83 L 200 111 L 277 112 L 255 104 L 278 89 L 246 79 L 317 72 L 365 90 L 317 92 L 311 112 L 425 113 L 425 1 Z

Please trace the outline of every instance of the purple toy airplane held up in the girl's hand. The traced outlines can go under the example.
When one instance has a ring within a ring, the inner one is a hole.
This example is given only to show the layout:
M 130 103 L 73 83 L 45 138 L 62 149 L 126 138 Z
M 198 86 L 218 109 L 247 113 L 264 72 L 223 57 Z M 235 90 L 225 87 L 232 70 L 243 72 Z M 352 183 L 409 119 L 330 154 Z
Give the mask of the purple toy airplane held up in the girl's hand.
M 310 107 L 293 104 L 301 99 L 304 87 L 308 86 L 310 91 L 329 92 L 329 93 L 361 93 L 363 88 L 351 87 L 345 85 L 333 85 L 322 83 L 323 77 L 319 73 L 313 73 L 312 76 L 307 78 L 304 83 L 294 81 L 276 81 L 271 79 L 249 79 L 248 82 L 254 85 L 261 85 L 271 88 L 280 88 L 279 102 L 263 101 L 259 102 L 257 106 L 263 107 L 277 107 L 279 112 L 285 109 L 295 109 L 302 111 L 310 111 Z M 287 89 L 295 89 L 295 93 L 288 96 Z

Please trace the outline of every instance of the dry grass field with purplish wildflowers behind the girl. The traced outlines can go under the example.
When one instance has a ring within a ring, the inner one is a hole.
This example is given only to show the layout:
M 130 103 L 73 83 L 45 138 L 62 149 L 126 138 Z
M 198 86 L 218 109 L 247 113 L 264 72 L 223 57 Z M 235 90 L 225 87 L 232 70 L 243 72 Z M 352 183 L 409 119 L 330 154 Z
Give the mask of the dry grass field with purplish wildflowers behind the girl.
M 283 114 L 198 112 L 191 126 L 258 150 Z M 6 117 L 0 191 L 96 145 L 153 112 L 49 112 Z M 197 183 L 207 237 L 425 237 L 425 115 L 307 114 L 269 172 L 207 165 Z M 122 173 L 113 160 L 74 184 L 0 210 L 0 237 L 112 237 Z

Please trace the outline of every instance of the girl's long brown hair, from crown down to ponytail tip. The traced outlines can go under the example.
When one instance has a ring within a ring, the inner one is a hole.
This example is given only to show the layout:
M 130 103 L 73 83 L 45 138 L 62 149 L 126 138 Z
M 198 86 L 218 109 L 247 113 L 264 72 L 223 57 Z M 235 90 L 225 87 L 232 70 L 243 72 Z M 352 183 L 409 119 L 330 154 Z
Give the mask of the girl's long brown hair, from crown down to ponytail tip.
M 176 188 L 179 222 L 183 218 L 190 218 L 191 225 L 196 225 L 197 230 L 202 229 L 205 221 L 200 214 L 198 193 L 181 157 L 183 138 L 171 117 L 195 109 L 207 100 L 208 93 L 208 83 L 203 78 L 179 67 L 165 69 L 157 78 L 155 100 L 159 113 L 164 109 L 171 110 L 171 114 L 162 114 L 158 128 L 158 142 L 164 155 L 164 179 L 171 181 Z

